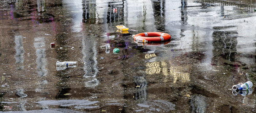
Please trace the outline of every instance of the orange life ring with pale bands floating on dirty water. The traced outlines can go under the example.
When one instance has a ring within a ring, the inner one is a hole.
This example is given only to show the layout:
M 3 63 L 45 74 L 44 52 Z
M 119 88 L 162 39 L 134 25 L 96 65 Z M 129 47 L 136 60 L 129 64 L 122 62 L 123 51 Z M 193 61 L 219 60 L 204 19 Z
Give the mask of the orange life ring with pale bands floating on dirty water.
M 148 42 L 163 42 L 171 39 L 171 35 L 164 32 L 142 32 L 136 34 L 134 40 L 145 39 Z

